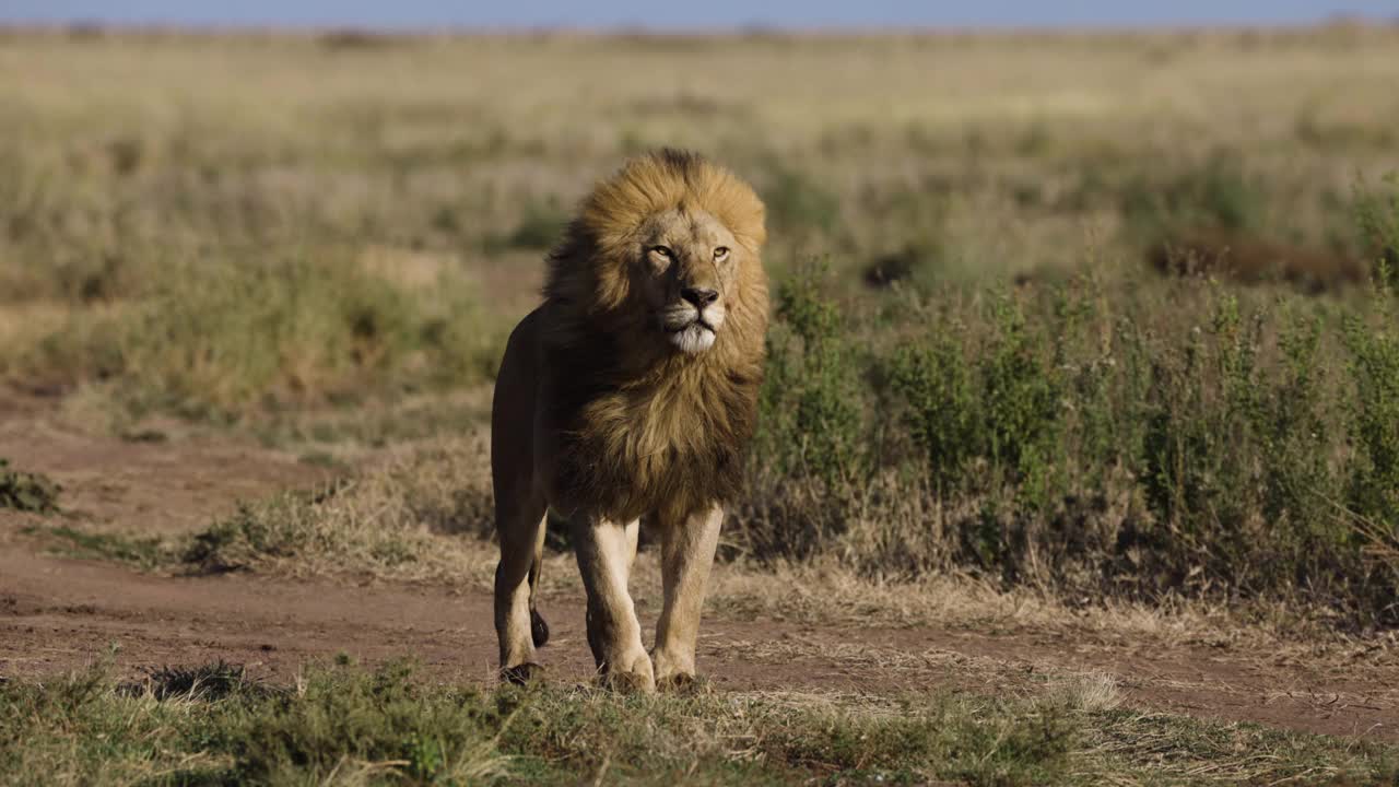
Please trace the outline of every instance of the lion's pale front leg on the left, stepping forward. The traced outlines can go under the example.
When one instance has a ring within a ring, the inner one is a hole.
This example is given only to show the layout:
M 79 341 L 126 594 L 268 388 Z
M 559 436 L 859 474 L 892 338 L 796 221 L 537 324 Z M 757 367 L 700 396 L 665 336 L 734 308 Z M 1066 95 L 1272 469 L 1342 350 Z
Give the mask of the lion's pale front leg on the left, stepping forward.
M 641 644 L 641 622 L 627 592 L 639 527 L 637 521 L 624 525 L 585 515 L 569 520 L 588 590 L 588 644 L 597 671 L 617 688 L 653 692 L 651 657 Z

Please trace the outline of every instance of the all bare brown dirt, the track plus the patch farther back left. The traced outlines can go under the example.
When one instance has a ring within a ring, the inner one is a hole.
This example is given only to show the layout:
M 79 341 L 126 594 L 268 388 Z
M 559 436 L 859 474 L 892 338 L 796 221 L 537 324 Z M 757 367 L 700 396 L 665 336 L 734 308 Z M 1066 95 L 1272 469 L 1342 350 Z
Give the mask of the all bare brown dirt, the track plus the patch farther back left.
M 59 478 L 78 515 L 125 529 L 200 527 L 241 496 L 315 479 L 308 468 L 245 445 L 126 444 L 42 419 L 0 423 L 0 455 Z M 7 536 L 0 539 L 0 676 L 42 676 L 108 657 L 130 672 L 222 658 L 285 681 L 308 661 L 344 653 L 368 664 L 413 657 L 442 679 L 492 679 L 495 636 L 484 591 L 143 576 L 38 555 L 15 536 L 21 524 L 0 513 Z M 644 618 L 653 620 L 645 601 Z M 551 598 L 544 612 L 554 633 L 541 654 L 551 678 L 588 679 L 581 604 Z M 1280 661 L 1032 629 L 990 634 L 711 616 L 700 660 L 720 690 L 1023 692 L 1094 672 L 1111 675 L 1135 707 L 1399 741 L 1392 650 L 1353 661 Z

